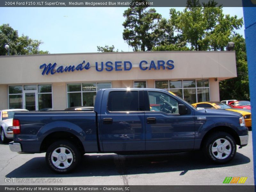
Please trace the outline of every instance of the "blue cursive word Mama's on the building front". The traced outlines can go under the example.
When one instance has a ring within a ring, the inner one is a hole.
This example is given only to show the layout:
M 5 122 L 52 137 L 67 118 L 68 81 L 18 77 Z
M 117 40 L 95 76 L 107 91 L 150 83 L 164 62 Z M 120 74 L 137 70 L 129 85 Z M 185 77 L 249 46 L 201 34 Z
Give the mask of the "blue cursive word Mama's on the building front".
M 83 69 L 88 70 L 90 67 L 90 63 L 87 62 L 86 65 L 85 64 L 85 60 L 78 64 L 77 66 L 75 65 L 70 65 L 70 66 L 60 66 L 57 69 L 56 65 L 57 63 L 49 63 L 48 65 L 46 65 L 45 63 L 43 65 L 40 66 L 40 69 L 43 69 L 42 75 L 49 75 L 49 73 L 51 73 L 51 75 L 54 75 L 55 73 L 63 73 L 63 72 L 73 72 L 73 71 L 82 71 Z

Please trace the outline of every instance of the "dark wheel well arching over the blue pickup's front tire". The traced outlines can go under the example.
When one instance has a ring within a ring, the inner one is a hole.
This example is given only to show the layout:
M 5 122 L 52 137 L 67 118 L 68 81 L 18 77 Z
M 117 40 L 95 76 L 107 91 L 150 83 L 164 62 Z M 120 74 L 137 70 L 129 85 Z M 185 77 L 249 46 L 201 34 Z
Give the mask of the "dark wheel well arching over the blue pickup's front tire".
M 237 144 L 237 145 L 240 145 L 240 138 L 239 138 L 238 134 L 237 134 L 232 128 L 227 127 L 227 126 L 220 126 L 220 127 L 214 127 L 214 128 L 212 128 L 210 131 L 208 131 L 208 132 L 204 135 L 204 138 L 203 138 L 203 140 L 202 140 L 202 142 L 201 142 L 201 147 L 200 147 L 200 148 L 203 147 L 203 144 L 204 144 L 205 140 L 206 140 L 211 134 L 213 134 L 213 133 L 215 133 L 215 132 L 226 132 L 226 133 L 232 135 L 232 137 L 234 137 L 234 139 L 236 140 L 236 144 Z

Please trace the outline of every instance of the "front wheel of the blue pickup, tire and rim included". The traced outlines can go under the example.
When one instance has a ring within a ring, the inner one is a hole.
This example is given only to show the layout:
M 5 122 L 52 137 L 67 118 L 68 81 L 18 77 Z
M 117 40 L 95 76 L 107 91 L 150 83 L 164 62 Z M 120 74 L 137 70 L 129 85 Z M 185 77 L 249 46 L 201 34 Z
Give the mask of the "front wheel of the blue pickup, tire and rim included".
M 205 140 L 203 152 L 212 162 L 225 164 L 236 155 L 236 140 L 226 132 L 213 133 Z

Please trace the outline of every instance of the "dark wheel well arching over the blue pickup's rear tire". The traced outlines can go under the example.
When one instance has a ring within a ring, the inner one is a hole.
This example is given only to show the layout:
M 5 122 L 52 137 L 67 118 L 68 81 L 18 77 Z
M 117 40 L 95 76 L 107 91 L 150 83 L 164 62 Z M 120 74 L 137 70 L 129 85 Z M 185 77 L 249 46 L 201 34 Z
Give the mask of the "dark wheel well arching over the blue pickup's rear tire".
M 84 152 L 84 147 L 80 139 L 76 137 L 76 135 L 64 131 L 53 132 L 47 135 L 41 144 L 40 151 L 45 152 L 48 147 L 57 140 L 68 140 L 75 144 L 78 147 L 79 151 Z

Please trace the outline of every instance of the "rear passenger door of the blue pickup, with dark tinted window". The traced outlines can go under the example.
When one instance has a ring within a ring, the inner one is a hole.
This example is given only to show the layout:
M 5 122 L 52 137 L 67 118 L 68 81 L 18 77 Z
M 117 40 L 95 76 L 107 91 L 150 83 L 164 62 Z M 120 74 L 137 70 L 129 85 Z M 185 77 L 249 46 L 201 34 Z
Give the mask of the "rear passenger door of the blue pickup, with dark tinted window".
M 104 152 L 144 151 L 143 91 L 105 90 L 99 133 Z

